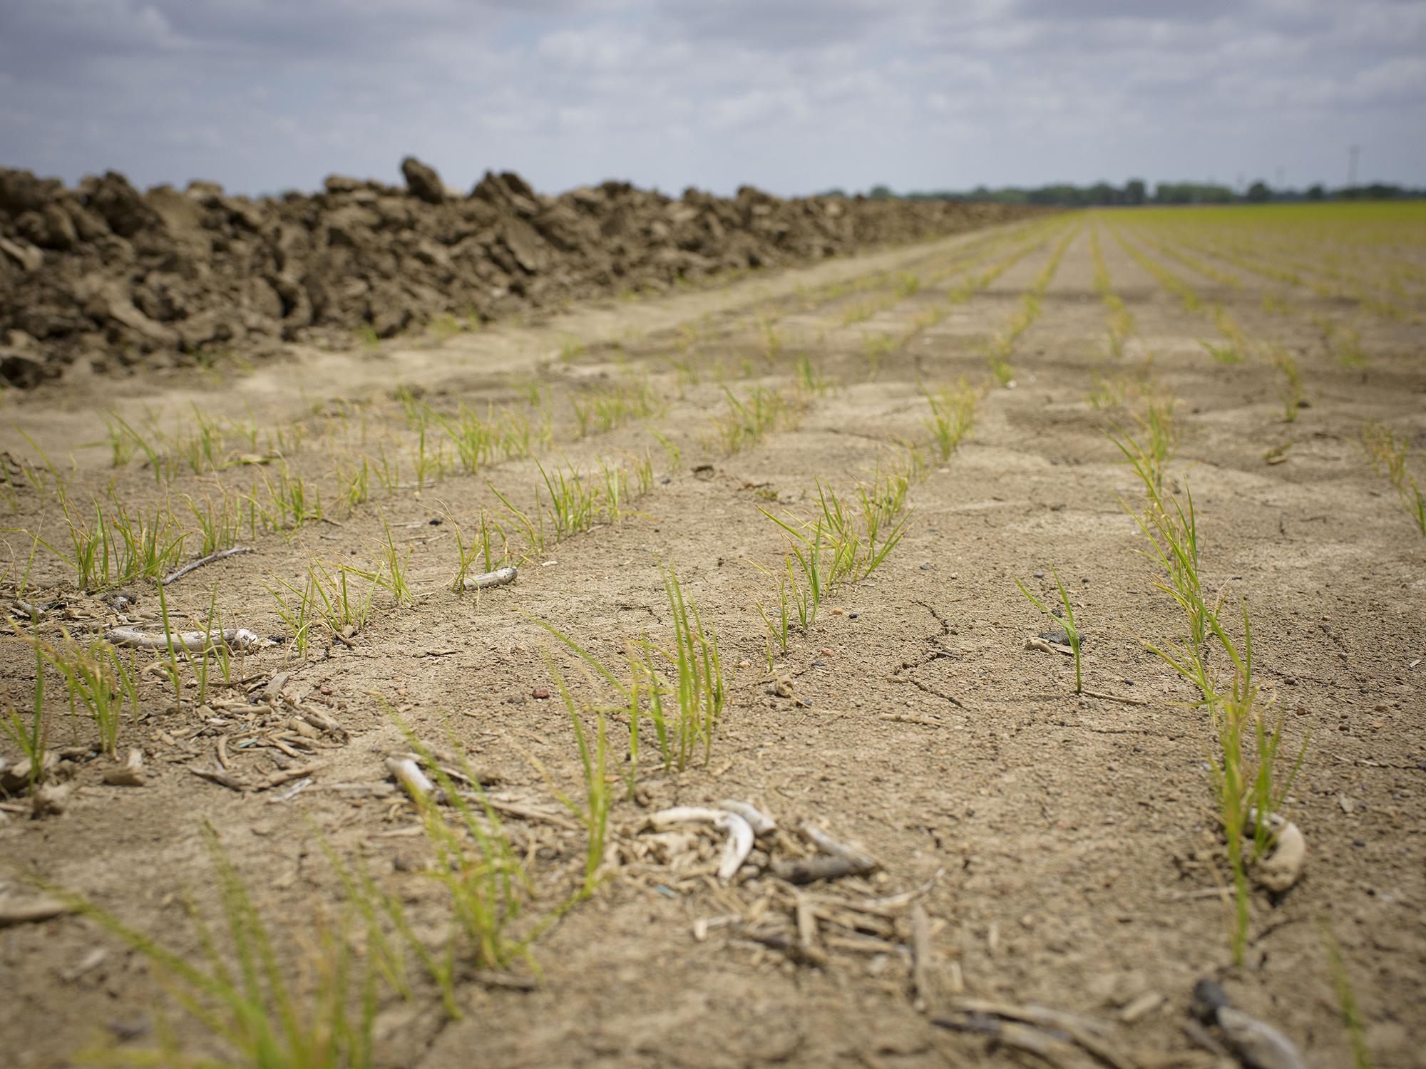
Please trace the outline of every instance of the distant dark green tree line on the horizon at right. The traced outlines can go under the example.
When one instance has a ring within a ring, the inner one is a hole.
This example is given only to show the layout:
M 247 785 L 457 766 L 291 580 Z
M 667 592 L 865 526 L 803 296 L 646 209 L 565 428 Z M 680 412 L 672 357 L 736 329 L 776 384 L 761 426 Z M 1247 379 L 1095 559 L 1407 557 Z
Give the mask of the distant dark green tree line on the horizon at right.
M 830 190 L 829 195 L 846 195 L 841 190 Z M 1389 201 L 1426 197 L 1426 190 L 1412 190 L 1387 182 L 1369 185 L 1345 185 L 1329 190 L 1320 182 L 1306 190 L 1273 190 L 1265 181 L 1256 181 L 1245 191 L 1214 182 L 1156 182 L 1149 185 L 1142 178 L 1131 178 L 1122 187 L 1109 182 L 1094 185 L 1071 185 L 1055 182 L 1040 187 L 1005 185 L 988 188 L 977 185 L 968 191 L 937 190 L 896 192 L 887 185 L 873 185 L 866 197 L 874 201 L 965 201 L 973 204 L 1040 204 L 1054 207 L 1088 208 L 1135 204 L 1268 204 L 1292 201 Z

